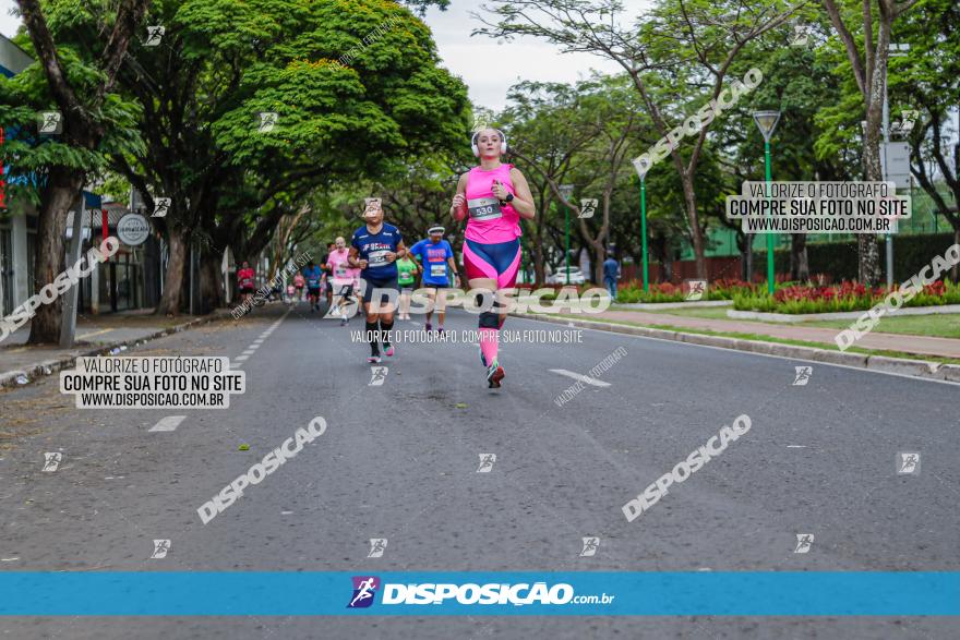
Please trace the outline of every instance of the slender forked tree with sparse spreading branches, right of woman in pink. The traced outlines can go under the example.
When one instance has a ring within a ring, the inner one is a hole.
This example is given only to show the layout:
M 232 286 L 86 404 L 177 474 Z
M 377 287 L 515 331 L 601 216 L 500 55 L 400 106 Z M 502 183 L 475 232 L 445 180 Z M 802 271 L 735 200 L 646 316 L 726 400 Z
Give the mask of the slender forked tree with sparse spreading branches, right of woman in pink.
M 622 26 L 616 0 L 526 0 L 497 2 L 499 22 L 487 22 L 479 33 L 495 37 L 532 35 L 560 45 L 564 51 L 587 51 L 610 58 L 631 77 L 660 136 L 681 128 L 708 99 L 716 100 L 746 47 L 779 27 L 796 7 L 780 0 L 658 0 L 638 19 L 638 27 Z M 670 87 L 675 89 L 671 96 Z M 659 90 L 658 90 L 659 89 Z M 663 96 L 667 104 L 661 102 Z M 698 96 L 692 98 L 692 96 Z M 696 198 L 696 173 L 709 125 L 693 140 L 670 150 L 681 178 L 697 275 L 707 277 L 705 240 Z M 651 138 L 648 144 L 655 143 Z M 692 153 L 682 154 L 688 146 Z

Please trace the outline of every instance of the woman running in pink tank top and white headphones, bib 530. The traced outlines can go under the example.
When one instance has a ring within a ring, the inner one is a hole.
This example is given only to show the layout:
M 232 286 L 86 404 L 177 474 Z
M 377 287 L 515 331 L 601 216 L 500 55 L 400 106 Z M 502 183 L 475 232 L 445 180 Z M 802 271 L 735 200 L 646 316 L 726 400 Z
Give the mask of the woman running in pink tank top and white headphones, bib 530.
M 506 321 L 511 290 L 517 282 L 520 267 L 520 218 L 532 220 L 536 215 L 533 196 L 527 180 L 513 165 L 500 157 L 506 153 L 506 137 L 496 129 L 473 134 L 473 155 L 480 166 L 460 176 L 457 194 L 451 206 L 455 220 L 467 217 L 464 233 L 464 267 L 470 289 L 493 292 L 491 311 L 480 314 L 480 361 L 487 367 L 490 388 L 500 387 L 504 377 L 497 362 L 500 329 Z M 489 304 L 489 302 L 488 302 Z

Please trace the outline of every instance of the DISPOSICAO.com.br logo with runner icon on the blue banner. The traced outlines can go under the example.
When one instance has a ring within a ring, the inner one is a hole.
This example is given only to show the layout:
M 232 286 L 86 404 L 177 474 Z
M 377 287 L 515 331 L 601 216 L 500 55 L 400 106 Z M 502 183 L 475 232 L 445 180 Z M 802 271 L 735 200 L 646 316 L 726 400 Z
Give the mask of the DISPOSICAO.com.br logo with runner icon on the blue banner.
M 352 596 L 347 608 L 369 607 L 374 602 L 379 588 L 382 588 L 383 605 L 417 604 L 466 604 L 466 605 L 563 605 L 563 604 L 611 604 L 615 595 L 576 595 L 574 588 L 566 582 L 548 585 L 547 582 L 485 583 L 473 582 L 422 582 L 381 584 L 376 576 L 355 576 Z M 447 602 L 449 601 L 449 602 Z

